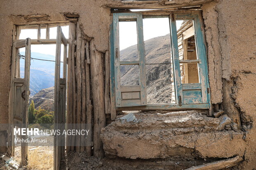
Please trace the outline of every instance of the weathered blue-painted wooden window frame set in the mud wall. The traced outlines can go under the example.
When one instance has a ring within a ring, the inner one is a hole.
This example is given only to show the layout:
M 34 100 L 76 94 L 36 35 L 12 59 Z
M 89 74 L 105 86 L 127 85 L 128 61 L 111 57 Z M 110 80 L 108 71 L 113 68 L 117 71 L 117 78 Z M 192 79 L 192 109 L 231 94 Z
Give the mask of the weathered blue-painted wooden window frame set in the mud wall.
M 115 72 L 115 29 L 114 21 L 122 16 L 123 19 L 130 16 L 141 16 L 142 13 L 114 13 L 113 22 L 110 25 L 109 32 L 109 53 L 110 53 L 110 93 L 111 101 L 116 102 L 116 72 Z M 151 16 L 158 17 L 158 16 Z M 161 17 L 161 16 L 159 16 Z M 171 110 L 171 109 L 209 109 L 210 104 L 210 92 L 209 92 L 209 77 L 208 77 L 208 65 L 206 56 L 206 47 L 204 44 L 203 31 L 199 19 L 199 13 L 178 13 L 170 14 L 170 31 L 171 31 L 171 47 L 172 47 L 172 58 L 173 58 L 173 78 L 175 84 L 175 104 L 147 104 L 147 105 L 129 105 L 129 107 L 122 107 L 121 105 L 116 105 L 116 110 Z M 176 30 L 176 20 L 193 20 L 195 40 L 197 44 L 197 56 L 199 60 L 199 84 L 181 84 L 180 77 L 180 61 L 178 57 L 178 37 Z M 142 28 L 143 30 L 143 28 Z M 139 35 L 138 35 L 139 36 Z M 143 32 L 142 32 L 143 36 Z M 143 44 L 144 46 L 144 44 Z M 144 50 L 144 47 L 143 47 Z M 139 49 L 140 51 L 140 49 Z M 145 62 L 145 61 L 144 61 Z M 201 98 L 193 97 L 198 91 L 201 90 Z M 183 96 L 184 95 L 184 96 Z M 180 96 L 180 97 L 179 97 Z M 183 98 L 184 97 L 184 98 Z M 181 100 L 180 100 L 181 99 Z

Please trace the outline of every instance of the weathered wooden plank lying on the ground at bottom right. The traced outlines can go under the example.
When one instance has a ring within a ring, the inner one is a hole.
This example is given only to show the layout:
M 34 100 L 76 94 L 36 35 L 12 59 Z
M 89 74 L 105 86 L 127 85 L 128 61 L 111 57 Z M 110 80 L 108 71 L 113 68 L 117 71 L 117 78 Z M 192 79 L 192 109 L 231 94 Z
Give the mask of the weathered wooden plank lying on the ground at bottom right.
M 221 161 L 215 161 L 211 163 L 204 163 L 203 165 L 192 166 L 191 168 L 187 168 L 186 170 L 220 170 L 233 167 L 243 160 L 244 158 L 236 156 L 234 158 L 228 158 Z

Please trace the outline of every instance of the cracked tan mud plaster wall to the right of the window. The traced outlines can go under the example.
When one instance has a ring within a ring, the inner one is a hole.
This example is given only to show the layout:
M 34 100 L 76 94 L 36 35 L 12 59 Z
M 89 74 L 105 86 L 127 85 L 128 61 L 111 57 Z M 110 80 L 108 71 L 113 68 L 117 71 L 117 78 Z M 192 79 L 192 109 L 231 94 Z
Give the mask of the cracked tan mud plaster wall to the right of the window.
M 252 128 L 246 132 L 245 161 L 239 165 L 239 169 L 242 170 L 256 168 L 255 6 L 255 0 L 216 0 L 202 6 L 209 50 L 209 79 L 212 102 L 214 103 L 221 98 L 221 96 L 218 98 L 213 93 L 216 91 L 218 91 L 218 95 L 221 95 L 221 93 L 219 93 L 219 87 L 214 87 L 218 80 L 214 80 L 215 82 L 212 80 L 216 76 L 216 72 L 214 71 L 214 64 L 210 63 L 214 61 L 214 57 L 211 57 L 211 48 L 215 49 L 213 54 L 215 58 L 218 58 L 218 64 L 221 64 L 221 70 L 217 69 L 217 71 L 222 74 L 222 78 L 228 81 L 235 80 L 235 85 L 232 87 L 233 93 L 230 95 L 234 98 L 234 104 L 239 109 L 242 124 L 252 124 Z M 210 15 L 208 12 L 212 14 Z M 211 22 L 208 19 L 211 19 Z M 214 26 L 215 32 L 212 29 L 209 30 Z M 216 26 L 218 28 L 217 35 L 214 34 L 216 33 Z M 209 33 L 212 33 L 212 37 Z M 214 44 L 219 44 L 220 47 L 216 47 Z M 217 79 L 219 79 L 218 72 Z

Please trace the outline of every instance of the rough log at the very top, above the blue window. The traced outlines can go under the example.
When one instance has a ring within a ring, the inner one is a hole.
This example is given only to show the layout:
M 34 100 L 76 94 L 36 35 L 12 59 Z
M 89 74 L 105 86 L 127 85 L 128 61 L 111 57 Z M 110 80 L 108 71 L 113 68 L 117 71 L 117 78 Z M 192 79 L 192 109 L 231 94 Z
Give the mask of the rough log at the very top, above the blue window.
M 145 1 L 143 4 L 134 4 L 134 3 L 116 3 L 116 5 L 113 5 L 113 2 L 110 4 L 106 4 L 105 6 L 114 8 L 114 9 L 166 9 L 166 8 L 178 8 L 178 7 L 192 7 L 197 5 L 202 5 L 204 3 L 211 2 L 212 0 L 195 0 L 191 3 L 185 3 L 185 4 L 166 4 L 166 5 L 160 5 L 158 3 L 154 4 L 146 4 L 147 1 Z

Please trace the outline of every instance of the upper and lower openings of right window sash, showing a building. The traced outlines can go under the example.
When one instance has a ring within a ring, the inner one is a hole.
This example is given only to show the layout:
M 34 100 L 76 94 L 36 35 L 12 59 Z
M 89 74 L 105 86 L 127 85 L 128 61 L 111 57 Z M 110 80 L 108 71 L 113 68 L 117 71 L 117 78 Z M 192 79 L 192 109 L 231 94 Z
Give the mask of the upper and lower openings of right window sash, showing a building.
M 193 20 L 176 21 L 180 62 L 197 60 Z M 199 83 L 198 63 L 180 63 L 181 82 Z

